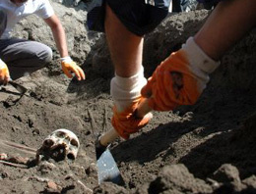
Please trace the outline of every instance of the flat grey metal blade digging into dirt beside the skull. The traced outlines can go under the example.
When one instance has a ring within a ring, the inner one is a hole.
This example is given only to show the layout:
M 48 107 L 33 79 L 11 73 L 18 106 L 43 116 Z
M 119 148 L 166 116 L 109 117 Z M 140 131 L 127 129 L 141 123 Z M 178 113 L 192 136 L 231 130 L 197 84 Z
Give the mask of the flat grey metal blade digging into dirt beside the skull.
M 108 148 L 97 159 L 96 166 L 98 184 L 103 181 L 110 181 L 118 185 L 124 184 L 124 180 Z

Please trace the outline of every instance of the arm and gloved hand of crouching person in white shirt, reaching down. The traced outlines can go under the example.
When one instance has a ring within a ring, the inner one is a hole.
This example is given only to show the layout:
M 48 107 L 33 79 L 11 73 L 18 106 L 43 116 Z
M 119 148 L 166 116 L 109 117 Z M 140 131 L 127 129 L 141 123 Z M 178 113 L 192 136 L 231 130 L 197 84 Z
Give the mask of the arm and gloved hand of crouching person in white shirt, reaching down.
M 68 54 L 66 34 L 58 17 L 54 14 L 51 17 L 44 19 L 44 22 L 51 28 L 57 49 L 60 53 L 63 72 L 68 77 L 72 77 L 71 73 L 75 73 L 79 80 L 85 79 L 86 76 L 83 70 L 70 58 Z

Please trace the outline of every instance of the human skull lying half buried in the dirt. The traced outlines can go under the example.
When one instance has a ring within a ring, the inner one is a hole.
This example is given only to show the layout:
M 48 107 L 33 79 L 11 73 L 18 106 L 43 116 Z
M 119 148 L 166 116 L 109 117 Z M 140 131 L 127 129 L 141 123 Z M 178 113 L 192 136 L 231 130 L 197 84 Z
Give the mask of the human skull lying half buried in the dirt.
M 75 160 L 80 147 L 77 135 L 65 128 L 54 130 L 42 142 L 37 150 L 37 156 L 43 155 L 53 158 L 55 161 L 66 158 Z

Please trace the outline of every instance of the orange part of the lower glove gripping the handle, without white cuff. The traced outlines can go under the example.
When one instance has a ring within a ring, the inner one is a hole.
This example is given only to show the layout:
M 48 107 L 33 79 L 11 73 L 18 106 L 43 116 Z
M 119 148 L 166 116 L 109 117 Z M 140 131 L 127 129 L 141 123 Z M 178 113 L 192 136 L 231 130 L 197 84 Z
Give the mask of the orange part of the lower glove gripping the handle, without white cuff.
M 128 139 L 130 134 L 144 127 L 152 118 L 149 114 L 144 118 L 136 117 L 136 109 L 141 100 L 142 97 L 138 97 L 132 105 L 122 113 L 118 113 L 116 107 L 113 107 L 112 125 L 117 133 L 124 139 Z

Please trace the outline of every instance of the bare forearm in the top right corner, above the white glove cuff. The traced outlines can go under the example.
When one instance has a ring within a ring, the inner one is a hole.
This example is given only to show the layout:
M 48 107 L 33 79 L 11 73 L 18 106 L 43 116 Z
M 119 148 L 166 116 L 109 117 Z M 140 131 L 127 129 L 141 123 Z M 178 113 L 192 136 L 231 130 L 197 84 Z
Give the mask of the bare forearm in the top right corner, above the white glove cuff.
M 195 42 L 212 59 L 224 53 L 256 24 L 256 1 L 232 0 L 219 3 L 195 35 Z

